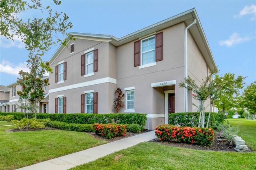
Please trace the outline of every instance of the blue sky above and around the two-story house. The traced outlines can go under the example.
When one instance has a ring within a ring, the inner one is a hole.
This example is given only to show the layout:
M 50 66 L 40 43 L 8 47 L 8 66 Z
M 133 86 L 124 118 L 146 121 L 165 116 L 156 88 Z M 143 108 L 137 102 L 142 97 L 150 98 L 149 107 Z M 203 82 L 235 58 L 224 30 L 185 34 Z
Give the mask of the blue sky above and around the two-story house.
M 248 76 L 246 85 L 256 81 L 256 2 L 255 1 L 63 1 L 54 6 L 73 23 L 68 32 L 110 34 L 117 38 L 196 8 L 220 74 Z M 41 17 L 39 12 L 19 14 L 22 18 Z M 17 39 L 0 38 L 0 84 L 16 81 L 18 70 L 26 67 L 28 51 Z M 43 56 L 48 61 L 58 46 Z

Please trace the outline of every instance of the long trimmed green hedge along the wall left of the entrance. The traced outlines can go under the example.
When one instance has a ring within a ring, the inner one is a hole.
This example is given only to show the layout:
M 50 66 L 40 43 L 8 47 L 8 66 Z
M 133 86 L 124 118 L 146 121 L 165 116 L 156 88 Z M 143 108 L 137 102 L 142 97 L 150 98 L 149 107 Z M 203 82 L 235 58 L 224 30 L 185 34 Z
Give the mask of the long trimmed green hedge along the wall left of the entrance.
M 14 115 L 14 119 L 24 118 L 24 113 L 0 113 L 0 115 Z M 116 123 L 116 124 L 138 124 L 140 126 L 146 125 L 147 114 L 140 113 L 117 113 L 117 114 L 85 114 L 85 113 L 69 113 L 69 114 L 48 114 L 38 113 L 37 119 L 50 119 L 51 121 L 58 121 L 64 123 L 78 123 L 78 124 L 94 124 L 94 123 Z M 34 117 L 34 113 L 29 113 L 28 118 Z

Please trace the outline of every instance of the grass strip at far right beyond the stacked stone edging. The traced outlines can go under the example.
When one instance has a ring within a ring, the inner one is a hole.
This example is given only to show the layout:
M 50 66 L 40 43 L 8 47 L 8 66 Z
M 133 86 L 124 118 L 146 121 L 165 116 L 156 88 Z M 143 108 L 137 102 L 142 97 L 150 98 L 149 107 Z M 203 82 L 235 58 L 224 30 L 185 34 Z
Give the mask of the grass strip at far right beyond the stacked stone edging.
M 245 140 L 247 146 L 256 151 L 256 120 L 244 118 L 226 120 L 240 129 L 237 135 Z

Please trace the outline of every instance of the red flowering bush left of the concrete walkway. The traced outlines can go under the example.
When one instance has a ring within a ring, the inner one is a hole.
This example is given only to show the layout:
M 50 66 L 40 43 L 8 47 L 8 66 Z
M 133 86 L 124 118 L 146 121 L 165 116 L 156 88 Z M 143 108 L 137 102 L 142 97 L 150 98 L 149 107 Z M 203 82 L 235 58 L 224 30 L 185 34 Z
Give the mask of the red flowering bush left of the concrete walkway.
M 92 128 L 95 130 L 96 134 L 104 136 L 107 139 L 111 139 L 115 136 L 125 136 L 126 134 L 126 125 L 96 123 L 92 125 Z

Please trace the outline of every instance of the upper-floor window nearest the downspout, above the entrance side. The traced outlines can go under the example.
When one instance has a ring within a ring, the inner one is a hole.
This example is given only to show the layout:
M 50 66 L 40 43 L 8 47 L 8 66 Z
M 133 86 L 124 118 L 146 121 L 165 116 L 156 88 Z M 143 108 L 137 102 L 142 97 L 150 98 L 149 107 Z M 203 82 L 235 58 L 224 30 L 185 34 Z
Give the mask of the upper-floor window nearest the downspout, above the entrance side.
M 141 65 L 155 62 L 155 36 L 141 41 Z

